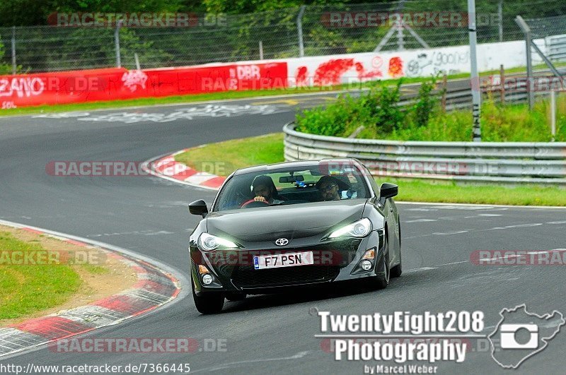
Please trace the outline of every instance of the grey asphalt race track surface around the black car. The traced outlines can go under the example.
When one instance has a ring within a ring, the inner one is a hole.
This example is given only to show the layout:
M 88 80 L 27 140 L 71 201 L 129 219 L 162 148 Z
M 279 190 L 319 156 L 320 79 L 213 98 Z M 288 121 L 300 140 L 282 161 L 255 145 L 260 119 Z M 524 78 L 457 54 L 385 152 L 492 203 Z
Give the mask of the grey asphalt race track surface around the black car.
M 310 105 L 312 98 L 301 100 Z M 319 98 L 320 100 L 320 98 Z M 230 105 L 266 102 L 238 101 Z M 324 102 L 324 100 L 322 100 Z M 187 213 L 197 198 L 211 202 L 214 191 L 156 177 L 53 177 L 53 160 L 133 160 L 202 143 L 280 131 L 296 108 L 275 114 L 197 117 L 176 121 L 77 121 L 11 117 L 0 119 L 0 218 L 94 239 L 157 259 L 188 275 L 188 236 L 199 218 Z M 171 113 L 161 108 L 115 112 Z M 249 145 L 253 148 L 253 145 Z M 403 186 L 400 186 L 403 189 Z M 494 188 L 493 194 L 502 194 Z M 403 230 L 403 268 L 386 290 L 356 285 L 317 293 L 248 297 L 227 302 L 221 314 L 200 315 L 189 285 L 178 302 L 152 314 L 85 335 L 88 338 L 226 339 L 225 352 L 57 353 L 40 347 L 3 364 L 190 363 L 191 372 L 235 374 L 360 373 L 369 362 L 336 362 L 321 349 L 316 307 L 334 314 L 393 314 L 395 311 L 485 312 L 485 334 L 499 311 L 526 304 L 537 314 L 566 313 L 561 266 L 475 266 L 476 250 L 549 250 L 566 247 L 566 210 L 399 204 Z M 521 364 L 518 373 L 563 374 L 566 328 L 543 352 Z M 394 362 L 382 364 L 395 364 Z M 462 364 L 437 363 L 439 373 L 487 374 L 504 371 L 486 351 L 470 352 Z

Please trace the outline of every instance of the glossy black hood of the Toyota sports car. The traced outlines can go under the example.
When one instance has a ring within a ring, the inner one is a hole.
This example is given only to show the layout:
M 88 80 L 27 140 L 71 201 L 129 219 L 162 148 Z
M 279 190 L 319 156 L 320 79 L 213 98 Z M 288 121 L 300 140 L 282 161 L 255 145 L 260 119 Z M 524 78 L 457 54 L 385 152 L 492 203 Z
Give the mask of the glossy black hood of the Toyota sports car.
M 365 199 L 352 199 L 210 213 L 207 232 L 245 242 L 311 237 L 359 220 L 365 204 Z

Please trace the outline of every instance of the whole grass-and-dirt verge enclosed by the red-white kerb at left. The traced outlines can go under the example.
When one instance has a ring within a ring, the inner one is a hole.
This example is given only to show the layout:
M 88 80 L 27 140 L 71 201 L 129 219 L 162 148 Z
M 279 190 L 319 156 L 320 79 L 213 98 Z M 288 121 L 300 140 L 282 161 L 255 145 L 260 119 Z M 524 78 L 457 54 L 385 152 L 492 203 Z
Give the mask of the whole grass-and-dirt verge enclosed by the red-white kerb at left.
M 0 226 L 0 327 L 84 306 L 137 277 L 96 248 Z

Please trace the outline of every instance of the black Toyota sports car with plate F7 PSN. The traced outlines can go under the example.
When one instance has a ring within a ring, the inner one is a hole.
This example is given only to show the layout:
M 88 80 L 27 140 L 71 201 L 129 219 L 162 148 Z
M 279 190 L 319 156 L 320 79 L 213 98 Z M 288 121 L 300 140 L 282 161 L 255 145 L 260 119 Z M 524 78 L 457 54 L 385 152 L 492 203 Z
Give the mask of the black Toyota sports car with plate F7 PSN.
M 192 293 L 202 314 L 224 298 L 366 279 L 376 288 L 401 274 L 393 196 L 355 159 L 284 162 L 238 169 L 190 236 Z

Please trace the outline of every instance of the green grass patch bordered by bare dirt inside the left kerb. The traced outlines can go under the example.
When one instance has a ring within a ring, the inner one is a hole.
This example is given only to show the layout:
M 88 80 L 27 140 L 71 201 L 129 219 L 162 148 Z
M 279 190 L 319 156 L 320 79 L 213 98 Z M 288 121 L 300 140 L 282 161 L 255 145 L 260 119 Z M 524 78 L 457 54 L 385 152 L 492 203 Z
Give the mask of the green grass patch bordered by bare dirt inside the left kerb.
M 2 253 L 43 250 L 36 242 L 0 232 Z M 19 318 L 63 304 L 80 286 L 79 274 L 69 265 L 0 265 L 0 319 Z

